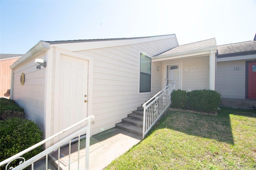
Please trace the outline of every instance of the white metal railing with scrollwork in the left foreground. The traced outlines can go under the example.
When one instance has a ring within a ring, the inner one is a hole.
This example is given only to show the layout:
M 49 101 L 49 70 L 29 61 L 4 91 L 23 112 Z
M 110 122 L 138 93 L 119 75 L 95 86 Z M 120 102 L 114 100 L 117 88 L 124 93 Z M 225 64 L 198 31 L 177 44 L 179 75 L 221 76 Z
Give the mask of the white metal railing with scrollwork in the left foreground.
M 27 148 L 26 150 L 23 150 L 22 152 L 0 162 L 0 167 L 4 166 L 6 164 L 5 169 L 9 169 L 9 170 L 22 170 L 28 166 L 32 166 L 32 170 L 34 170 L 34 162 L 36 162 L 37 160 L 40 160 L 41 158 L 43 158 L 44 156 L 46 156 L 46 170 L 48 170 L 48 154 L 50 154 L 51 152 L 55 151 L 58 149 L 58 170 L 60 170 L 60 146 L 66 144 L 67 142 L 69 142 L 69 147 L 71 147 L 71 140 L 73 138 L 78 137 L 78 169 L 79 169 L 79 154 L 80 154 L 80 135 L 86 133 L 86 158 L 85 158 L 85 168 L 86 170 L 88 170 L 89 167 L 89 147 L 90 147 L 90 131 L 91 131 L 91 120 L 94 119 L 94 116 L 89 116 L 88 118 L 85 118 L 83 120 L 81 120 L 80 122 L 77 122 L 76 124 L 50 136 L 49 138 L 46 138 L 45 140 L 42 140 L 41 142 Z M 81 124 L 83 122 L 87 122 L 86 126 L 81 128 L 80 130 L 78 130 L 77 132 L 73 133 L 72 135 L 68 136 L 67 138 L 61 140 L 60 142 L 58 142 L 57 144 L 54 144 L 53 146 L 51 146 L 50 148 L 44 150 L 43 152 L 41 152 L 40 154 L 37 154 L 36 156 L 25 160 L 25 158 L 21 157 L 22 155 L 26 154 L 27 152 L 42 146 L 43 144 L 46 144 L 46 142 L 49 142 L 50 140 L 52 140 L 54 137 L 59 136 L 60 134 L 63 134 L 64 132 L 66 132 L 67 130 L 70 130 L 74 127 L 76 127 L 78 124 Z M 12 167 L 10 166 L 10 163 L 14 160 L 18 160 L 21 159 L 22 161 L 20 161 L 20 165 L 16 166 L 16 167 Z M 70 163 L 70 148 L 69 148 L 69 163 Z M 8 168 L 8 166 L 10 166 Z M 68 165 L 68 169 L 70 169 L 70 164 Z

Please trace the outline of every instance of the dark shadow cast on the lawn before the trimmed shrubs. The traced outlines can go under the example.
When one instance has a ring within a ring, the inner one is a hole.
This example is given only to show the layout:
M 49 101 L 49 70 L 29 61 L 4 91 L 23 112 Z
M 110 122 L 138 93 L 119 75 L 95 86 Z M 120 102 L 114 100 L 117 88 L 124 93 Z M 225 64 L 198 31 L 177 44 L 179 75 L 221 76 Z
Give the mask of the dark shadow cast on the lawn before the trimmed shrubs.
M 236 113 L 232 112 L 230 108 L 221 108 L 218 111 L 218 116 L 204 116 L 183 111 L 168 111 L 160 122 L 156 124 L 155 129 L 169 128 L 193 136 L 234 144 L 230 114 Z M 244 114 L 246 113 L 244 112 Z M 254 116 L 253 113 L 251 115 Z

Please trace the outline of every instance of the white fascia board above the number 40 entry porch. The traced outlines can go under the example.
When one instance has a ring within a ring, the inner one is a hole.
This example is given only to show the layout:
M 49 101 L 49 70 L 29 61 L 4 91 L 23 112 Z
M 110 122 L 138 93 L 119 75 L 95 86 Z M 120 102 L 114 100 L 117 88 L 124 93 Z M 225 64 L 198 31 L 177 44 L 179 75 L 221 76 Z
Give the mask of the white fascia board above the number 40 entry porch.
M 206 54 L 210 55 L 211 50 L 213 50 L 215 53 L 217 51 L 217 47 L 205 48 L 205 49 L 200 49 L 200 50 L 192 50 L 192 51 L 186 51 L 186 52 L 179 52 L 179 53 L 168 54 L 168 55 L 164 55 L 164 56 L 155 56 L 155 57 L 152 57 L 152 62 L 172 60 L 172 59 L 185 58 L 185 57 L 193 57 L 193 56 L 202 56 L 202 55 L 206 55 Z

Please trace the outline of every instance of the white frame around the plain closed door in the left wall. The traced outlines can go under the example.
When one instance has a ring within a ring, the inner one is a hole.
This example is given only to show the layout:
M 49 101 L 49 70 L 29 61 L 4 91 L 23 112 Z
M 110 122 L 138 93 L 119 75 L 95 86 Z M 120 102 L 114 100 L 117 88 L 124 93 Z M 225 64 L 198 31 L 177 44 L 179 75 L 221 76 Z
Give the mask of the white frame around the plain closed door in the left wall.
M 53 134 L 58 133 L 58 128 L 59 123 L 58 123 L 58 117 L 59 117 L 59 96 L 60 96 L 60 57 L 61 55 L 65 56 L 70 56 L 74 58 L 79 58 L 83 60 L 88 60 L 88 94 L 87 94 L 87 116 L 92 115 L 92 92 L 93 92 L 93 58 L 90 56 L 86 56 L 83 54 L 78 54 L 75 52 L 70 52 L 67 50 L 63 50 L 60 48 L 56 48 L 56 53 L 55 53 L 55 84 L 54 84 L 54 111 L 53 111 L 53 116 L 54 116 L 54 121 L 53 124 L 51 125 L 53 127 Z

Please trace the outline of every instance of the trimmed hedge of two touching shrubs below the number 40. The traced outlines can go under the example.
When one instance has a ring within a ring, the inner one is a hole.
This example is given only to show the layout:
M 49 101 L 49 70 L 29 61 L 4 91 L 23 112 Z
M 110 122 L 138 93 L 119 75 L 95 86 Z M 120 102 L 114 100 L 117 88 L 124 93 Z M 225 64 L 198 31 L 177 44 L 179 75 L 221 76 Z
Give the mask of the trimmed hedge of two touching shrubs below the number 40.
M 174 90 L 171 94 L 173 108 L 188 109 L 198 112 L 215 111 L 220 104 L 220 94 L 214 90 Z

